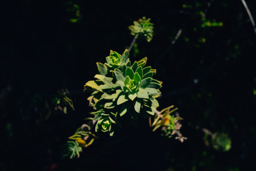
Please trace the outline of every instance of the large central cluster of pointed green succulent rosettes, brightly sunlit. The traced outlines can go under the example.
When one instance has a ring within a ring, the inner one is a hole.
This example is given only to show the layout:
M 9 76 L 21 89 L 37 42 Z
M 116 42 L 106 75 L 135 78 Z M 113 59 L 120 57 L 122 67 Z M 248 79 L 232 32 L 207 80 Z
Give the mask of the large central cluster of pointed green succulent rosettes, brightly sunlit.
M 109 131 L 112 136 L 114 127 L 121 127 L 121 120 L 125 120 L 124 115 L 132 123 L 138 121 L 138 116 L 155 115 L 162 82 L 153 79 L 156 70 L 144 67 L 146 61 L 145 57 L 131 65 L 129 52 L 125 50 L 122 55 L 111 51 L 104 65 L 97 63 L 99 74 L 84 85 L 84 91 L 93 91 L 88 100 L 97 111 L 93 113 L 96 131 Z

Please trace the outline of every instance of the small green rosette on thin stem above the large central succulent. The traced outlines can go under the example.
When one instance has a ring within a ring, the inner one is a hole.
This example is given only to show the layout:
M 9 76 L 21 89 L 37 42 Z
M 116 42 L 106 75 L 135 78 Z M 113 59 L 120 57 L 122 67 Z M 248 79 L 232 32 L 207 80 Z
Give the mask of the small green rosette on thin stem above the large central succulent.
M 150 23 L 150 18 L 142 17 L 138 22 L 133 22 L 134 25 L 129 26 L 131 30 L 131 34 L 135 36 L 135 38 L 141 37 L 150 42 L 153 38 L 153 23 Z

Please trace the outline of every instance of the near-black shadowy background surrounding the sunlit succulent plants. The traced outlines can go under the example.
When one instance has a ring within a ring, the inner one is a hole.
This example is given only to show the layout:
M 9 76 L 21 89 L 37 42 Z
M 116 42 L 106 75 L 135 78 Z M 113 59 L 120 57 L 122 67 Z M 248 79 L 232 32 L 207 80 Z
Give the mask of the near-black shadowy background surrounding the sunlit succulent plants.
M 255 18 L 256 2 L 246 2 Z M 223 26 L 201 27 L 200 11 Z M 61 160 L 59 146 L 92 111 L 84 83 L 110 50 L 129 47 L 128 27 L 142 16 L 151 18 L 155 35 L 138 42 L 131 61 L 147 56 L 157 69 L 159 110 L 177 106 L 188 139 L 161 137 L 141 119 L 111 138 L 100 133 L 80 158 Z M 2 1 L 0 170 L 256 170 L 255 43 L 242 1 Z M 74 92 L 75 111 L 41 121 L 31 97 L 62 88 Z M 204 133 L 188 123 L 227 133 L 230 151 L 206 146 Z

